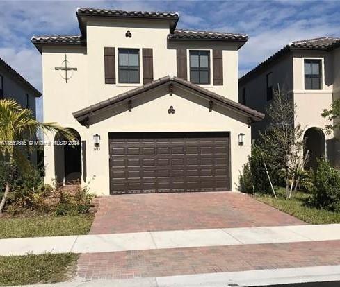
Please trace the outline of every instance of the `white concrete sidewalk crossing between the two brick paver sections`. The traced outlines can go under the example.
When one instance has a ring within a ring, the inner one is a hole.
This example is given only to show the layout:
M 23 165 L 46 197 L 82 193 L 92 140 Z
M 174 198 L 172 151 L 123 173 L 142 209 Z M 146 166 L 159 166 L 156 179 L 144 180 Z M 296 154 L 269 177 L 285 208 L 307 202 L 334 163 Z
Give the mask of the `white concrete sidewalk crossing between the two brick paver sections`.
M 340 225 L 293 225 L 175 230 L 0 240 L 0 256 L 51 253 L 100 253 L 184 247 L 295 243 L 340 240 Z

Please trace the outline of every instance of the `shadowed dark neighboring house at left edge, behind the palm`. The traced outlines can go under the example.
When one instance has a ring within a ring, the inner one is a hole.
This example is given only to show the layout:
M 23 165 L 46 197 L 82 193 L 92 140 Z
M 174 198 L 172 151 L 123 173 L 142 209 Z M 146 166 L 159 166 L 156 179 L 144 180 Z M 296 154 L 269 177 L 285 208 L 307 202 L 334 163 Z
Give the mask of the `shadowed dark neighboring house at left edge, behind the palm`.
M 32 110 L 36 118 L 35 98 L 40 96 L 38 89 L 0 58 L 0 99 L 14 98 L 22 107 Z M 37 162 L 36 153 L 31 155 L 31 161 Z

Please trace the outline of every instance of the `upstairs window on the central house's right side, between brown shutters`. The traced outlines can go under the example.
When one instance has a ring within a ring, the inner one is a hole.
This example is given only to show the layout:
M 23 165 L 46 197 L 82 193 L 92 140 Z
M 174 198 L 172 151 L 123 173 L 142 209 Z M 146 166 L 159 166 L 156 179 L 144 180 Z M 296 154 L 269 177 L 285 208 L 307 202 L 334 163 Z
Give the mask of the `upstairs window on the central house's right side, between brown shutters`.
M 190 80 L 210 84 L 210 51 L 190 51 Z

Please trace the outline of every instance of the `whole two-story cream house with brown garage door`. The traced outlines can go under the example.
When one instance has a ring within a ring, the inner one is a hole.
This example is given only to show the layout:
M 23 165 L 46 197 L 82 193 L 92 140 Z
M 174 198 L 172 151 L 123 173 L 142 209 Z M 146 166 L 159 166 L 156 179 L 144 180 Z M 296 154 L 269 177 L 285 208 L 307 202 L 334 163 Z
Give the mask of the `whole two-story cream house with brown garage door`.
M 76 16 L 81 35 L 32 38 L 44 119 L 81 142 L 45 148 L 45 182 L 91 180 L 104 195 L 236 190 L 264 116 L 237 103 L 247 35 L 176 30 L 172 12 Z

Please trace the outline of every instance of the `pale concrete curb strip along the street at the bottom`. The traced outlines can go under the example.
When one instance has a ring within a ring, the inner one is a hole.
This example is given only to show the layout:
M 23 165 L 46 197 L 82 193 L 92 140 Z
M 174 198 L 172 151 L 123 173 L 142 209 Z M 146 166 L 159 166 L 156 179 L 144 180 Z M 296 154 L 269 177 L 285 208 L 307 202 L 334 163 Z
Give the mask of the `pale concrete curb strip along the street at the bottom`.
M 339 280 L 340 266 L 318 266 L 124 280 L 81 281 L 76 279 L 57 284 L 35 284 L 25 287 L 245 287 Z

